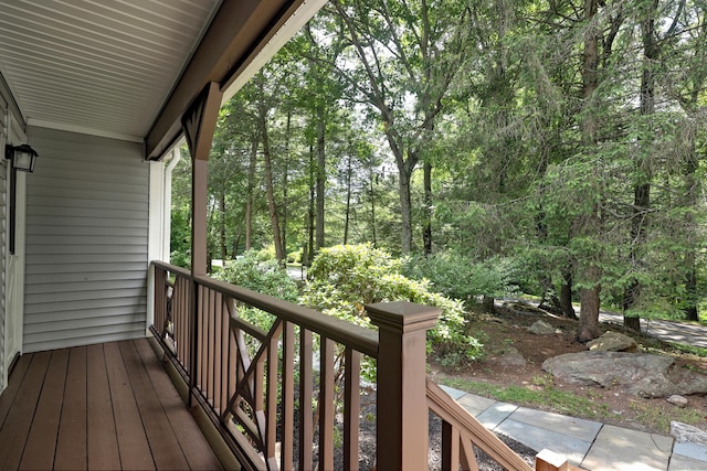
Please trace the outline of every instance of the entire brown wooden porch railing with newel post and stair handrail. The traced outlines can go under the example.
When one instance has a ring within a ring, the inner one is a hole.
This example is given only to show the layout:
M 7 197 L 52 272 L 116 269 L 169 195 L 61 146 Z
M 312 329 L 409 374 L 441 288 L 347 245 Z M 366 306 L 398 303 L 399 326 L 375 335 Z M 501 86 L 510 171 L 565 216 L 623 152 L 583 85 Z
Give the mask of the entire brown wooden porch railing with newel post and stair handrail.
M 368 306 L 376 332 L 165 263 L 152 267 L 150 329 L 244 469 L 358 470 L 362 361 L 376 362 L 378 470 L 428 469 L 429 411 L 443 421 L 442 469 L 476 469 L 472 445 L 507 469 L 531 469 L 426 381 L 425 332 L 439 309 Z M 245 321 L 244 307 L 261 322 Z

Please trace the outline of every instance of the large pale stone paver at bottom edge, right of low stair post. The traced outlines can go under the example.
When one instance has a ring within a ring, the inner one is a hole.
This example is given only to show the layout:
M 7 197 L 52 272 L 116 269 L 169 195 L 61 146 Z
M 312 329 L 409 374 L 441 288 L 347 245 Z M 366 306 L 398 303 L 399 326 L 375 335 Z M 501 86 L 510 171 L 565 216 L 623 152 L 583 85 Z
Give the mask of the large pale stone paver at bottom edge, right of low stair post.
M 671 437 L 605 425 L 581 467 L 591 471 L 665 471 Z

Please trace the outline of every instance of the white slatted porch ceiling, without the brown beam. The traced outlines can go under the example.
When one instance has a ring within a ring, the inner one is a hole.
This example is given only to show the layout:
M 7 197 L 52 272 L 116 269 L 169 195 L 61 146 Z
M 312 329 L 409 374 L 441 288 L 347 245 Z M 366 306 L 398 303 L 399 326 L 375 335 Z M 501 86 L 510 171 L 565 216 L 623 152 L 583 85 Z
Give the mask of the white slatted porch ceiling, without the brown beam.
M 0 73 L 29 125 L 143 141 L 221 0 L 0 0 Z

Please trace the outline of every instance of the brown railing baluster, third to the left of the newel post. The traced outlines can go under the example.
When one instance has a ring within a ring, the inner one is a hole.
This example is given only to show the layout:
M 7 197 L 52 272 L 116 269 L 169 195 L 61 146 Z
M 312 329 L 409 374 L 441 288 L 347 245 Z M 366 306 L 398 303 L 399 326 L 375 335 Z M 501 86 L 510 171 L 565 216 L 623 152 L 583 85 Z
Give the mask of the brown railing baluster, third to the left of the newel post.
M 299 329 L 299 469 L 310 470 L 312 441 L 312 331 Z

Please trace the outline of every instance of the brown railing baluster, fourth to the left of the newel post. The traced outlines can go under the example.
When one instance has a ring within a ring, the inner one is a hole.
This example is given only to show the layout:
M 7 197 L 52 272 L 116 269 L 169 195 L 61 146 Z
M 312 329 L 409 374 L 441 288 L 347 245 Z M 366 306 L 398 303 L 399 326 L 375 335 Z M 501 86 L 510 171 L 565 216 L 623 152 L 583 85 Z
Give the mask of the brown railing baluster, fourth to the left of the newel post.
M 292 322 L 283 322 L 283 366 L 282 366 L 282 470 L 293 469 L 294 404 L 295 404 L 295 330 Z

